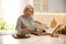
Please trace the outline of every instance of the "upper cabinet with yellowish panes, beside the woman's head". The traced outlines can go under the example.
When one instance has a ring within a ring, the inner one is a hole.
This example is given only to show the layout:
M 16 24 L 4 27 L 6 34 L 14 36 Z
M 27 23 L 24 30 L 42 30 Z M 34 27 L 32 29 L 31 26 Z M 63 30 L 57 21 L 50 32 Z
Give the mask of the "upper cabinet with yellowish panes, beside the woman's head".
M 33 6 L 35 12 L 47 12 L 48 11 L 48 0 L 33 0 Z

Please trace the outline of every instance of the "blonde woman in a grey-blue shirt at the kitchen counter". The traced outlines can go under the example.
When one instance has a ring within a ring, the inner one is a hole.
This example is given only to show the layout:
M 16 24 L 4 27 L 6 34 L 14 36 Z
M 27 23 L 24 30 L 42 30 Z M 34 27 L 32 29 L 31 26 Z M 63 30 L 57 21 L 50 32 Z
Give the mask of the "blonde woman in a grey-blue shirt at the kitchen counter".
M 29 33 L 35 32 L 37 30 L 41 30 L 38 26 L 36 26 L 35 22 L 33 20 L 33 13 L 34 13 L 33 7 L 30 4 L 26 6 L 23 11 L 23 15 L 19 16 L 18 22 L 16 22 L 15 30 L 18 31 L 18 33 L 21 33 L 21 34 L 28 33 L 29 34 Z

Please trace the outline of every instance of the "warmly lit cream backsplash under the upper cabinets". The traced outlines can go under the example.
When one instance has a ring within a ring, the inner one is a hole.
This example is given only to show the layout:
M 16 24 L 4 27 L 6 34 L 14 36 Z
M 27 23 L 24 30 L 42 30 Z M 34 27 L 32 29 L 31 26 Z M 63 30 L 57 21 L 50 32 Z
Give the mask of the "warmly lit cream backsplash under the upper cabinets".
M 34 14 L 34 20 L 41 21 L 48 26 L 51 26 L 53 19 L 56 20 L 57 24 L 66 25 L 66 14 L 64 13 Z

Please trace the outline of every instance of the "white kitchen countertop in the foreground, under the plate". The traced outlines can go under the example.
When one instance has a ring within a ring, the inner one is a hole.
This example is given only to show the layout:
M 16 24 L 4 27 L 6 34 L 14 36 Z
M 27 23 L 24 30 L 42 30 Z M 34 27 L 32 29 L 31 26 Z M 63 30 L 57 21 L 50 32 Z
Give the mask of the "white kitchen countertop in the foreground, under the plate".
M 14 38 L 12 35 L 0 35 L 0 44 L 66 44 L 66 35 L 59 35 L 59 37 L 31 35 L 29 38 Z

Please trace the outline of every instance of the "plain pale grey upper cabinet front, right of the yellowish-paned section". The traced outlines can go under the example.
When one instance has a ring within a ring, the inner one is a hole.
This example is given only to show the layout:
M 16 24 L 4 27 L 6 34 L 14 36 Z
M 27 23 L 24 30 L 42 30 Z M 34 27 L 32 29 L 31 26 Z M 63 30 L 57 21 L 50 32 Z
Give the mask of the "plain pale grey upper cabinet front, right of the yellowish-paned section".
M 50 13 L 63 13 L 64 12 L 64 0 L 48 0 L 48 12 Z

